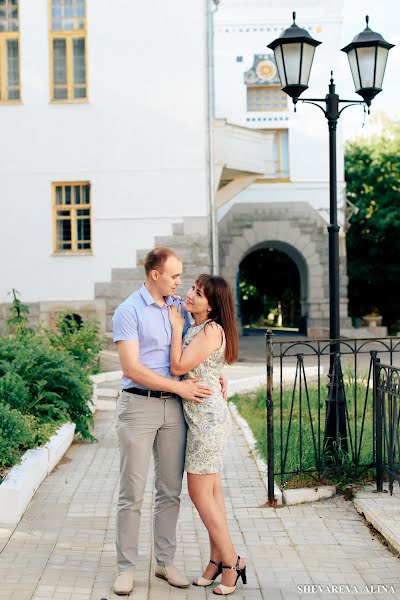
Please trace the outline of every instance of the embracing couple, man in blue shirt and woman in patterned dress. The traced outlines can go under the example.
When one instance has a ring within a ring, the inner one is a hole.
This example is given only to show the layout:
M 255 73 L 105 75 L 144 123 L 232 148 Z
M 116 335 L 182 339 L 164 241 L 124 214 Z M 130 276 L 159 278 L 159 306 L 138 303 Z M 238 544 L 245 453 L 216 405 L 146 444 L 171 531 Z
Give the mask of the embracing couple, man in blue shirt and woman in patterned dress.
M 185 470 L 190 498 L 210 539 L 210 562 L 193 584 L 208 586 L 221 575 L 213 592 L 228 595 L 239 577 L 246 583 L 245 561 L 228 529 L 220 478 L 230 429 L 221 371 L 238 354 L 232 292 L 222 277 L 199 275 L 185 300 L 177 298 L 182 263 L 169 248 L 154 248 L 144 267 L 145 283 L 113 317 L 123 371 L 116 414 L 121 480 L 113 590 L 122 595 L 133 589 L 153 452 L 155 575 L 176 587 L 190 585 L 174 566 Z

